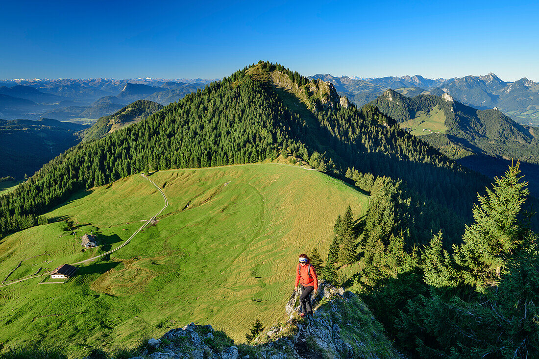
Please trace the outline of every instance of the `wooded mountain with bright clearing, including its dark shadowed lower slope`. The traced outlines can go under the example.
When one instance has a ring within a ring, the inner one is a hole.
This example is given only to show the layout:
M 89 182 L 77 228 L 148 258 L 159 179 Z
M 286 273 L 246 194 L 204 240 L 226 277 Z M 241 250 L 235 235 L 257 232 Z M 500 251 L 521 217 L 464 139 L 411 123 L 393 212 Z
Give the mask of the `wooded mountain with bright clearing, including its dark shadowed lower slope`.
M 496 109 L 462 105 L 448 94 L 408 98 L 387 90 L 371 103 L 447 156 L 491 178 L 503 175 L 512 158 L 528 162 L 521 170 L 539 196 L 536 128 L 522 126 Z

